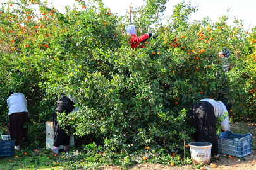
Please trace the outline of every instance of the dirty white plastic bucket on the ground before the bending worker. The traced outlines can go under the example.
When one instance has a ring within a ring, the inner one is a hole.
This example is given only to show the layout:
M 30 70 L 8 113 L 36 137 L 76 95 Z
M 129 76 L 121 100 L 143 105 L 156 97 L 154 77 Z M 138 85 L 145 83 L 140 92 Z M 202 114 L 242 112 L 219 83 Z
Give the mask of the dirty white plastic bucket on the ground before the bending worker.
M 188 145 L 190 146 L 190 154 L 193 164 L 210 163 L 212 144 L 209 142 L 192 142 Z

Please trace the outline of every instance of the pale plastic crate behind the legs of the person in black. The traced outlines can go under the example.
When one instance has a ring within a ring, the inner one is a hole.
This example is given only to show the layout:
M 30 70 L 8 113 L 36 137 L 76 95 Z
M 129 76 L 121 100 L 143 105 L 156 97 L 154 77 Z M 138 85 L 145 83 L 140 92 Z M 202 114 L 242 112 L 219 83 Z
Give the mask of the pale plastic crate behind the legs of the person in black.
M 52 149 L 54 143 L 53 122 L 46 122 L 46 149 Z M 70 147 L 75 145 L 74 136 L 70 135 Z M 64 149 L 61 145 L 59 149 Z

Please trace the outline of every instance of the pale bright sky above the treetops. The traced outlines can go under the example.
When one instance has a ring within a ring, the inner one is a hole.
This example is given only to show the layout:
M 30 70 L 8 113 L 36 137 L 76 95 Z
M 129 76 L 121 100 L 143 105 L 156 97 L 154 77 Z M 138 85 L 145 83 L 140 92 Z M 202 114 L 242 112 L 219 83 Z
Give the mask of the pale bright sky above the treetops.
M 0 0 L 3 1 L 3 0 Z M 143 0 L 102 0 L 107 7 L 111 9 L 113 13 L 125 14 L 126 10 L 129 9 L 129 6 L 138 7 L 141 5 L 145 5 L 145 1 Z M 54 6 L 61 12 L 64 12 L 64 6 L 72 6 L 75 1 L 71 0 L 50 0 L 49 3 L 52 2 Z M 167 9 L 165 15 L 171 16 L 173 13 L 174 5 L 181 1 L 178 0 L 169 0 L 167 3 Z M 188 0 L 185 0 L 188 3 Z M 192 4 L 199 5 L 198 11 L 192 14 L 191 21 L 197 20 L 202 21 L 202 19 L 206 16 L 210 17 L 210 20 L 217 22 L 219 17 L 223 14 L 227 14 L 227 9 L 230 8 L 228 25 L 235 26 L 233 23 L 234 16 L 238 18 L 238 20 L 244 20 L 244 28 L 248 29 L 248 26 L 251 24 L 251 28 L 256 26 L 255 19 L 255 8 L 256 8 L 256 0 L 191 0 Z M 131 4 L 132 3 L 132 4 Z

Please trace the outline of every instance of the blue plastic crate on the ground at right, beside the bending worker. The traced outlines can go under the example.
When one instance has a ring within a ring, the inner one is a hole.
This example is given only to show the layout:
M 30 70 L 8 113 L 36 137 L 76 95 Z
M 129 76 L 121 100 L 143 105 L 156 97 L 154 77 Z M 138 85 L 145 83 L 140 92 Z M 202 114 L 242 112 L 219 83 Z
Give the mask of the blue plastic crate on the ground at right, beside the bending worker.
M 219 152 L 236 157 L 244 157 L 252 153 L 252 134 L 239 135 L 231 131 L 218 136 Z

